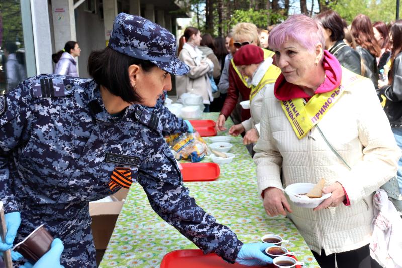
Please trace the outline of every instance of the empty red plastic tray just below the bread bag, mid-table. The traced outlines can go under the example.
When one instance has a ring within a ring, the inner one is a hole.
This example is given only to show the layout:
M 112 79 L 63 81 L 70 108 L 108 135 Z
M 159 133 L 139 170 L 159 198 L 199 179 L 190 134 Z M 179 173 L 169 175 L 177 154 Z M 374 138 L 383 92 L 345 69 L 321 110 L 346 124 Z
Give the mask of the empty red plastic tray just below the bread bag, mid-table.
M 203 182 L 218 179 L 220 169 L 216 163 L 180 163 L 185 182 Z

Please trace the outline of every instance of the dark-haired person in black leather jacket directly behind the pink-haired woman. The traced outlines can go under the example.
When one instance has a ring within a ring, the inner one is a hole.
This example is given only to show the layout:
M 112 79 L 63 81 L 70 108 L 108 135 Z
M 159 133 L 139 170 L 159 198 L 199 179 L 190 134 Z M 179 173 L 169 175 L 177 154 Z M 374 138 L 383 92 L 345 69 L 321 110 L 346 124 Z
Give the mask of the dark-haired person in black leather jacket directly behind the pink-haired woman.
M 324 28 L 325 49 L 334 55 L 346 69 L 361 75 L 360 55 L 344 41 L 342 18 L 333 10 L 327 10 L 316 16 Z

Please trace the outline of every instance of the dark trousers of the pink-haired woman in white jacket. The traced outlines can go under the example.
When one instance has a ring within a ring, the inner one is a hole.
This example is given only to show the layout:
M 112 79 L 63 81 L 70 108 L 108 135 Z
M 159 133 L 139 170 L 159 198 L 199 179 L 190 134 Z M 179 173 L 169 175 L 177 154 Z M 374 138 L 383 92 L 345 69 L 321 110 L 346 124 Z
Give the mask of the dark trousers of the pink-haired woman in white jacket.
M 381 268 L 377 261 L 370 257 L 369 245 L 328 256 L 325 255 L 324 249 L 321 251 L 321 256 L 313 250 L 311 252 L 321 268 L 335 268 L 335 258 L 338 268 Z

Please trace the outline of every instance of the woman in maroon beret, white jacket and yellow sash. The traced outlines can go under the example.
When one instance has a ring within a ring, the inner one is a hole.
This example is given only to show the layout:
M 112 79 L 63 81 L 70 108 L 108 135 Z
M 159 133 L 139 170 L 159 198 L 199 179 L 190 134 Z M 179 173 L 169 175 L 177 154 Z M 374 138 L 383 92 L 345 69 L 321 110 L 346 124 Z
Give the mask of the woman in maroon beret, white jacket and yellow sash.
M 233 125 L 229 134 L 237 136 L 243 132 L 243 144 L 253 144 L 259 138 L 259 124 L 261 120 L 261 107 L 265 91 L 273 91 L 273 86 L 280 70 L 272 64 L 273 59 L 264 59 L 262 48 L 253 45 L 241 47 L 233 57 L 233 61 L 243 77 L 248 77 L 250 85 L 250 113 L 251 117 L 240 124 Z

